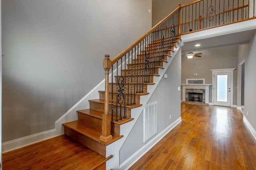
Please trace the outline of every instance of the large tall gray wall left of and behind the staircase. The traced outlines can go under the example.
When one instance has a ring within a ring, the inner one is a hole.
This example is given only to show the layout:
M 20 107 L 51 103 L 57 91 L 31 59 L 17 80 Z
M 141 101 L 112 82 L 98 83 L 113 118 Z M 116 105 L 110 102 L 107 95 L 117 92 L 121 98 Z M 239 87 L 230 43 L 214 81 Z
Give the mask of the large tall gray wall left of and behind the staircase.
M 151 0 L 2 0 L 3 142 L 54 129 L 151 28 Z

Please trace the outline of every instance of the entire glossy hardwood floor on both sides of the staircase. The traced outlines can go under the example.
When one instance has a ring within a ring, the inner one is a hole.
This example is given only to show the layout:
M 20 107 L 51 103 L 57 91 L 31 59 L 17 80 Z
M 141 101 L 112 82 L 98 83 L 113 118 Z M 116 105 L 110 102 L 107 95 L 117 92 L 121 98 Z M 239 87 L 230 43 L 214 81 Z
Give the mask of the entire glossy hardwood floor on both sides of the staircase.
M 239 110 L 182 104 L 181 116 L 182 122 L 130 170 L 256 170 L 256 141 Z M 2 154 L 2 169 L 103 170 L 105 161 L 61 135 Z

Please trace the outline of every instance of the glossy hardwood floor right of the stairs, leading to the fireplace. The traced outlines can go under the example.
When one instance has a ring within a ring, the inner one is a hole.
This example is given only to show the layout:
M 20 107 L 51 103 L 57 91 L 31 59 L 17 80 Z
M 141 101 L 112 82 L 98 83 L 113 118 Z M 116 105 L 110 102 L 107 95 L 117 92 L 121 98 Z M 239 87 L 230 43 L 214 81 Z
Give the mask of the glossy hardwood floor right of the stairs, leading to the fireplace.
M 182 104 L 181 117 L 130 170 L 256 170 L 256 141 L 239 110 Z

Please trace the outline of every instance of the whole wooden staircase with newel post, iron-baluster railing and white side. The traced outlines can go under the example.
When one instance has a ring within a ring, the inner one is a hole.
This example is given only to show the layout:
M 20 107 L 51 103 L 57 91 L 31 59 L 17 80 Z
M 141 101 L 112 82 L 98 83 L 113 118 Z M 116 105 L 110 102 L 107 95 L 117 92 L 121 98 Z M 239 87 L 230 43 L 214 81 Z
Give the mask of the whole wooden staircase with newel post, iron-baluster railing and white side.
M 109 59 L 109 55 L 105 55 L 103 61 L 105 91 L 98 91 L 99 99 L 89 100 L 89 109 L 77 111 L 78 120 L 62 124 L 64 133 L 104 157 L 113 156 L 108 161 L 114 159 L 111 164 L 120 168 L 119 150 L 143 111 L 142 106 L 147 104 L 180 48 L 180 36 L 218 26 L 217 19 L 220 20 L 220 15 L 230 16 L 230 9 L 210 16 L 208 13 L 205 16 L 203 12 L 198 14 L 196 19 L 190 18 L 190 15 L 197 12 L 192 10 L 186 16 L 187 8 L 193 9 L 193 4 L 201 8 L 204 7 L 203 3 L 204 0 L 200 0 L 184 6 L 179 5 L 174 12 L 112 60 Z M 232 12 L 238 13 L 239 9 L 246 9 L 248 6 L 243 4 L 233 8 Z M 215 25 L 207 23 L 207 20 L 212 19 L 213 16 L 216 20 Z M 194 26 L 191 28 L 190 25 Z M 110 69 L 112 77 L 109 74 Z M 110 83 L 109 78 L 111 78 Z M 123 127 L 126 128 L 125 131 Z

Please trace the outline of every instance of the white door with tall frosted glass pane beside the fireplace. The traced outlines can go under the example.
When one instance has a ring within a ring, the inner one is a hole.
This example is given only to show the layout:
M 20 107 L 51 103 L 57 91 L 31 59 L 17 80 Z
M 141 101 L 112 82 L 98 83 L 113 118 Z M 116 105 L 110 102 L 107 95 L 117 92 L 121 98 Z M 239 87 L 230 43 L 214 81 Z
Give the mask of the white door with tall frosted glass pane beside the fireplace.
M 231 72 L 214 73 L 214 105 L 231 106 Z

